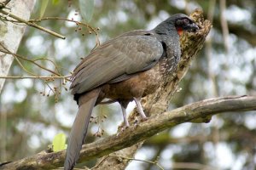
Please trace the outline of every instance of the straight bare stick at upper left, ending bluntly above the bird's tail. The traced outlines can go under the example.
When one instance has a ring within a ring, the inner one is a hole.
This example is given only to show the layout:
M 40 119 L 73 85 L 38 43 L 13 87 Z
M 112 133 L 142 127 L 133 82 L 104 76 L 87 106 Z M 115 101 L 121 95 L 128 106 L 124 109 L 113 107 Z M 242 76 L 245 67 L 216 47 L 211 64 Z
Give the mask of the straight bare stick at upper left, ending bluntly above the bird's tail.
M 38 26 L 38 25 L 36 25 L 32 22 L 21 19 L 20 17 L 16 16 L 15 14 L 10 14 L 9 12 L 4 11 L 3 9 L 0 9 L 0 13 L 5 14 L 5 15 L 7 15 L 7 16 L 15 19 L 15 20 L 18 20 L 18 21 L 22 22 L 22 23 L 25 23 L 27 26 L 32 26 L 34 28 L 37 28 L 38 30 L 45 31 L 45 32 L 47 32 L 47 33 L 49 33 L 49 34 L 51 34 L 55 37 L 60 37 L 61 39 L 66 38 L 66 37 L 62 36 L 61 34 L 56 33 L 55 31 L 50 31 L 50 30 L 44 28 L 43 26 Z

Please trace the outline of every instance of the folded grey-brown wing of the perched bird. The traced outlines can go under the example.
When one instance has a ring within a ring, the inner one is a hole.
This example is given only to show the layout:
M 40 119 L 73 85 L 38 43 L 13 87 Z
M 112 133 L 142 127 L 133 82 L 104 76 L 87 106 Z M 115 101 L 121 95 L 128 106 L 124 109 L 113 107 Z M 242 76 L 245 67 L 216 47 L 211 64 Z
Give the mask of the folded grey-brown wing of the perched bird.
M 130 31 L 104 42 L 73 71 L 72 94 L 82 94 L 115 78 L 148 70 L 162 54 L 161 42 L 149 31 Z

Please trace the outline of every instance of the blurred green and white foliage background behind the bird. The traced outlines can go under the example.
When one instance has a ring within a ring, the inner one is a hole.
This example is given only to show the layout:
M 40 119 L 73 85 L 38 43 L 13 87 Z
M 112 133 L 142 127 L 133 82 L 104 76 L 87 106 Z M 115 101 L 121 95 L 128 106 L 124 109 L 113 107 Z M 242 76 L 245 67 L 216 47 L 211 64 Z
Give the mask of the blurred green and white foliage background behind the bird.
M 41 4 L 34 8 L 32 19 L 38 19 Z M 169 15 L 190 14 L 202 8 L 205 18 L 212 20 L 212 31 L 200 54 L 180 83 L 182 90 L 172 98 L 171 109 L 201 99 L 226 95 L 255 95 L 256 91 L 256 2 L 254 0 L 95 0 L 90 26 L 99 27 L 100 42 L 135 29 L 153 29 Z M 49 3 L 45 14 L 80 20 L 76 1 Z M 27 28 L 18 54 L 30 59 L 47 57 L 68 75 L 80 58 L 96 45 L 96 35 L 67 21 L 45 20 L 40 26 L 66 36 L 61 40 L 42 31 Z M 76 31 L 77 30 L 77 31 Z M 84 36 L 83 36 L 84 34 Z M 23 63 L 42 76 L 45 71 Z M 47 61 L 40 64 L 52 69 Z M 26 76 L 16 62 L 9 76 Z M 59 82 L 50 82 L 58 87 Z M 66 87 L 69 87 L 67 83 Z M 51 144 L 55 134 L 69 134 L 78 106 L 73 96 L 62 88 L 59 101 L 43 96 L 49 88 L 37 79 L 5 82 L 0 108 L 0 161 L 14 161 L 32 156 Z M 256 105 L 256 104 L 255 104 Z M 134 104 L 129 106 L 131 111 Z M 108 136 L 122 122 L 119 105 L 100 105 L 94 110 L 96 122 L 90 123 L 88 142 L 95 133 L 105 130 Z M 107 119 L 104 116 L 108 116 Z M 138 159 L 160 162 L 165 169 L 256 169 L 256 112 L 232 112 L 212 117 L 206 124 L 183 123 L 148 139 L 137 151 Z M 92 167 L 95 161 L 88 162 Z M 159 167 L 142 161 L 131 161 L 127 170 L 154 170 Z

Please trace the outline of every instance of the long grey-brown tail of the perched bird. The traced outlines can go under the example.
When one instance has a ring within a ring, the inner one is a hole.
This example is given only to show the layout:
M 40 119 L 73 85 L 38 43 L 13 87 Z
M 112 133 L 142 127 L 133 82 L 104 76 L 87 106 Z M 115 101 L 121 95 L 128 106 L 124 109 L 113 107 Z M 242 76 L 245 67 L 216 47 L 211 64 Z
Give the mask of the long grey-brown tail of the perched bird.
M 64 163 L 65 170 L 73 169 L 76 161 L 79 160 L 79 153 L 82 149 L 82 144 L 84 144 L 90 115 L 96 104 L 99 92 L 100 89 L 97 88 L 79 97 L 79 111 L 73 122 L 67 145 L 66 159 Z

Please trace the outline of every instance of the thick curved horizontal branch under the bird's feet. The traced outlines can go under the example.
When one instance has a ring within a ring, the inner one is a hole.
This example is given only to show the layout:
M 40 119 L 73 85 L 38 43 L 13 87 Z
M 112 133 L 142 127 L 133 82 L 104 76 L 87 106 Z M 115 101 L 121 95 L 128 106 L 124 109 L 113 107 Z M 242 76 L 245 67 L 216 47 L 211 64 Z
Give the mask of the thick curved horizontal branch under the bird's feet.
M 85 144 L 79 161 L 88 161 L 96 157 L 106 156 L 115 150 L 137 144 L 166 128 L 174 127 L 183 122 L 205 122 L 206 117 L 231 111 L 256 111 L 256 96 L 228 96 L 205 99 L 173 111 L 151 116 L 148 121 L 129 127 L 125 132 L 91 144 Z M 49 169 L 61 167 L 64 156 L 64 150 L 54 153 L 42 152 L 36 156 L 5 164 L 0 169 Z

